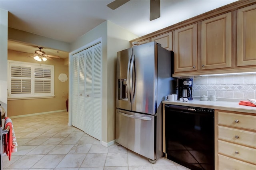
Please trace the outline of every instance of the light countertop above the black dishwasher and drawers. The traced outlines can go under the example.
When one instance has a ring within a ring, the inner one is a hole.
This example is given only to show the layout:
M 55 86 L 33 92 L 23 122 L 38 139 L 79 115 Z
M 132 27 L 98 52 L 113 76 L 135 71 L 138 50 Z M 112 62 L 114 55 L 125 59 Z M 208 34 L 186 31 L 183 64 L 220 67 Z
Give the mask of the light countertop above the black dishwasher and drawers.
M 239 102 L 231 101 L 200 101 L 199 99 L 193 99 L 188 102 L 183 101 L 162 101 L 164 104 L 171 105 L 182 105 L 182 106 L 191 106 L 191 107 L 202 107 L 208 109 L 218 109 L 226 111 L 236 111 L 244 113 L 255 113 L 256 107 L 239 105 Z

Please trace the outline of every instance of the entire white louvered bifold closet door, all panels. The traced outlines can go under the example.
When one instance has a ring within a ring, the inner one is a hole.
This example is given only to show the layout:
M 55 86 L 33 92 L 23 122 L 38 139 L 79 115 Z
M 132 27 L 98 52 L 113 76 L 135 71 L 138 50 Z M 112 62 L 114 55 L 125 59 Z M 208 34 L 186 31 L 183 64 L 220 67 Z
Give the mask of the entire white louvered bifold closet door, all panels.
M 72 126 L 101 140 L 102 48 L 72 55 Z

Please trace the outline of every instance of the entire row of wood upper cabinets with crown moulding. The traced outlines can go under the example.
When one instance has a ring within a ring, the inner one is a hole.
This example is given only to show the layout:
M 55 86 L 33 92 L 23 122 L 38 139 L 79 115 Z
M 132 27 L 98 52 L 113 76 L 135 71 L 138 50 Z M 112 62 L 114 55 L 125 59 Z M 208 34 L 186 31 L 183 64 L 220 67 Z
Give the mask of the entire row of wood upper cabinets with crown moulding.
M 256 1 L 240 0 L 131 42 L 156 41 L 173 49 L 174 77 L 251 72 L 256 67 L 255 16 Z

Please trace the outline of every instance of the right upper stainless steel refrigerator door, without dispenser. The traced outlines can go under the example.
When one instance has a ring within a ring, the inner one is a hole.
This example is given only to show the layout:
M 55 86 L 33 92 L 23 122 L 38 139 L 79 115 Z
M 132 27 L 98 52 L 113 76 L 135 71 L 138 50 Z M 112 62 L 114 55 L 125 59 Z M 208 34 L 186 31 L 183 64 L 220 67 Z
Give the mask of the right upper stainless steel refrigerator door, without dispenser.
M 132 48 L 134 56 L 132 111 L 150 115 L 156 114 L 157 53 L 155 49 L 155 42 Z

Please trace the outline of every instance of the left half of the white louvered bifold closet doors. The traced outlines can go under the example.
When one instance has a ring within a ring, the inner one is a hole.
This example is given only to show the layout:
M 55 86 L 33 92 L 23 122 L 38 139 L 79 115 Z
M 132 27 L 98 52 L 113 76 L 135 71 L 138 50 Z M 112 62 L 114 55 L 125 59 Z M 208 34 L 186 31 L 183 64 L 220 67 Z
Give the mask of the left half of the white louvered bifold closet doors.
M 84 51 L 72 55 L 72 125 L 84 130 Z

